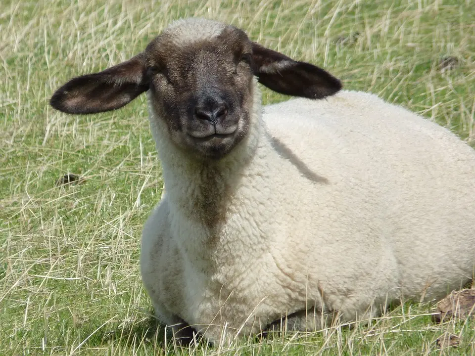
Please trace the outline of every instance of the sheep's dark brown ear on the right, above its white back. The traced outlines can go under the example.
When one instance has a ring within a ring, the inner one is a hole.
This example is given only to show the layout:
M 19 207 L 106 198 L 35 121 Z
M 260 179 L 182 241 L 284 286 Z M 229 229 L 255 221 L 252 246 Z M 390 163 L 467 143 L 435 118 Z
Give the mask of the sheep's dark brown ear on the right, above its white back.
M 341 89 L 340 81 L 323 69 L 256 43 L 251 66 L 259 83 L 282 94 L 320 99 Z

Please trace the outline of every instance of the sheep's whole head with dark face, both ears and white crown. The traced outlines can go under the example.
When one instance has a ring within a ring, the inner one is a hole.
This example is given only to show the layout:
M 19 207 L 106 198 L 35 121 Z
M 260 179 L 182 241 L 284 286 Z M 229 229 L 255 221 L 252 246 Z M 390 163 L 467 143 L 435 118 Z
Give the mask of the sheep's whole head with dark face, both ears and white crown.
M 130 60 L 72 79 L 54 93 L 51 105 L 67 113 L 96 113 L 150 90 L 151 105 L 178 147 L 221 158 L 249 130 L 253 76 L 272 90 L 314 99 L 341 88 L 324 70 L 253 43 L 233 26 L 187 19 Z

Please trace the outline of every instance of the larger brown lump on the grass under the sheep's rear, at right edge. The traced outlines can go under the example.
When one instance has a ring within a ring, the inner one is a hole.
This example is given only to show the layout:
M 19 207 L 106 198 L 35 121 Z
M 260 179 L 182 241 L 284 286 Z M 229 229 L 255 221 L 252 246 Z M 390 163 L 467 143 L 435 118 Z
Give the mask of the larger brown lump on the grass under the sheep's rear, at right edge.
M 434 322 L 447 321 L 452 317 L 475 315 L 475 289 L 452 292 L 437 303 L 437 314 L 432 315 Z

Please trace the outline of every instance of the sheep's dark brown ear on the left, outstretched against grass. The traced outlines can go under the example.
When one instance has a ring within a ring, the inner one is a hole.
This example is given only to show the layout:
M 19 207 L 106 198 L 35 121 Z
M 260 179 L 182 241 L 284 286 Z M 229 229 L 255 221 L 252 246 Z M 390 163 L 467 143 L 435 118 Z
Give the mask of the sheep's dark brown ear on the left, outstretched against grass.
M 49 103 L 69 114 L 91 114 L 118 109 L 148 89 L 141 54 L 102 72 L 71 79 L 57 89 Z

